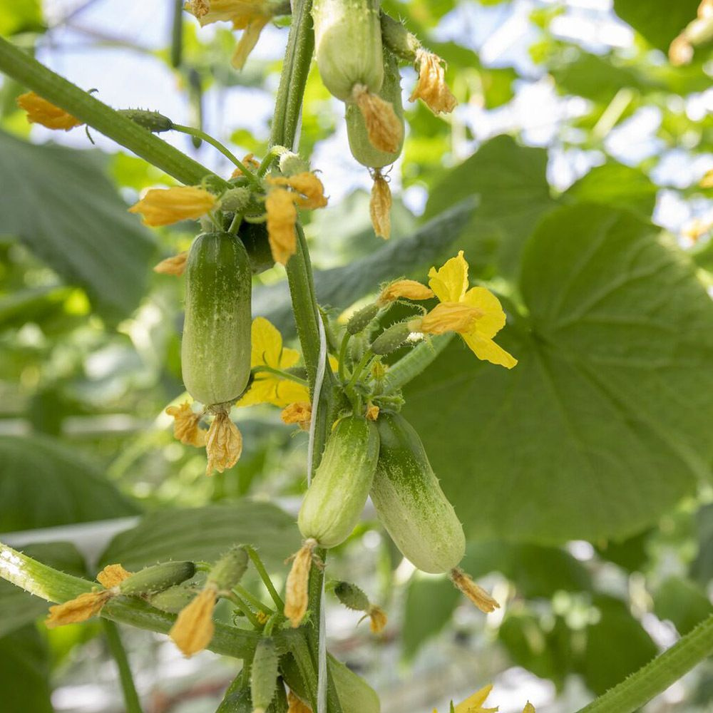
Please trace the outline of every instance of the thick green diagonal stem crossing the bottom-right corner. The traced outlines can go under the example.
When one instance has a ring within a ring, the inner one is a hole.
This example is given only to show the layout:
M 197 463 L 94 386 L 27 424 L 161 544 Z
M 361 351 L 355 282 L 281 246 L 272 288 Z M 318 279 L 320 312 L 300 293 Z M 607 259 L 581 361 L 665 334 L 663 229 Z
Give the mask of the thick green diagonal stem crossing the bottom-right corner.
M 713 615 L 577 713 L 632 713 L 713 654 Z

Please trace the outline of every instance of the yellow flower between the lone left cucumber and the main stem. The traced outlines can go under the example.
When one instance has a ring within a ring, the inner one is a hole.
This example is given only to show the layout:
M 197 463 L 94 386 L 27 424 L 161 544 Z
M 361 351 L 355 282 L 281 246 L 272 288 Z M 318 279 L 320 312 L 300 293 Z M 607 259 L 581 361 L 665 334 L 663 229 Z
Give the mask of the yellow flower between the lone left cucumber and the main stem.
M 252 369 L 257 366 L 267 366 L 270 369 L 286 371 L 299 361 L 297 349 L 282 347 L 282 334 L 265 317 L 256 317 L 252 321 L 251 337 Z M 271 371 L 257 371 L 250 389 L 236 405 L 273 404 L 284 407 L 298 401 L 309 401 L 309 389 L 305 384 L 284 379 Z

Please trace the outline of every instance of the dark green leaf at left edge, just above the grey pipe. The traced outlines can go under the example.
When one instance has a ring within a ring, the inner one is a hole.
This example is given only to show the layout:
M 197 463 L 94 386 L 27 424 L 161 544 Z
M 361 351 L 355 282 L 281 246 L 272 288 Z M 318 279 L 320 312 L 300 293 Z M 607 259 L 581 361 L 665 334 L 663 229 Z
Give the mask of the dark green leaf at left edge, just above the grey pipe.
M 85 523 L 136 512 L 76 448 L 46 436 L 0 436 L 0 530 Z

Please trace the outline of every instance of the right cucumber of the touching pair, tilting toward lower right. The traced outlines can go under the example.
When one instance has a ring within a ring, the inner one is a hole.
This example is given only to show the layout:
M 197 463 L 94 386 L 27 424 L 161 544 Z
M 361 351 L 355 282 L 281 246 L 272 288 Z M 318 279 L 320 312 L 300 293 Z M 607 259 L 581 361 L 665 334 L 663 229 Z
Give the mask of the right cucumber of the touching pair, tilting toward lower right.
M 463 559 L 466 538 L 443 494 L 419 434 L 403 416 L 382 412 L 371 501 L 401 553 L 419 570 L 448 572 Z

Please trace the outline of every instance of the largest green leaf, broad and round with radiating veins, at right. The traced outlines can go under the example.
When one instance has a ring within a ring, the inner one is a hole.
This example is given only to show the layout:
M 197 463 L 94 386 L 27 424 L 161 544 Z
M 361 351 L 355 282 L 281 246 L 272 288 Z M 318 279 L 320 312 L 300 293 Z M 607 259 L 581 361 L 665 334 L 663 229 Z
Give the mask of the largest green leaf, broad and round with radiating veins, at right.
M 454 340 L 404 414 L 471 535 L 637 533 L 709 474 L 713 303 L 654 227 L 595 205 L 545 217 L 520 288 L 498 334 L 518 366 Z

